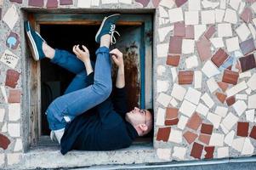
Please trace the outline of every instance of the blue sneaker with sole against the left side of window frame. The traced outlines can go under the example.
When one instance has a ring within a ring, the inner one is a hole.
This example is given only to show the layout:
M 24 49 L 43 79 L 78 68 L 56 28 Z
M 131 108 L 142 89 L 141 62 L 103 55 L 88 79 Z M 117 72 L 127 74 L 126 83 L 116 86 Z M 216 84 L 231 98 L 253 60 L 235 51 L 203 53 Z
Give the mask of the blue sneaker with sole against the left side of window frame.
M 31 48 L 31 54 L 33 58 L 37 61 L 43 59 L 45 55 L 43 54 L 43 37 L 37 31 L 34 31 L 29 23 L 25 22 L 26 36 L 28 37 L 28 44 Z

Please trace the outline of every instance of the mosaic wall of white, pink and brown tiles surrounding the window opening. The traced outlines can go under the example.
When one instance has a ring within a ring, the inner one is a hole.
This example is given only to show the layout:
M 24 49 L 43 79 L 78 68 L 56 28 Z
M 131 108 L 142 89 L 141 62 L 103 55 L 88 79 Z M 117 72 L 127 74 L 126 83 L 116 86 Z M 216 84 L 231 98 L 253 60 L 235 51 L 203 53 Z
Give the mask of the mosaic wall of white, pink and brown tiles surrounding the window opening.
M 156 155 L 252 156 L 256 0 L 0 0 L 0 167 L 24 150 L 20 8 L 156 8 Z

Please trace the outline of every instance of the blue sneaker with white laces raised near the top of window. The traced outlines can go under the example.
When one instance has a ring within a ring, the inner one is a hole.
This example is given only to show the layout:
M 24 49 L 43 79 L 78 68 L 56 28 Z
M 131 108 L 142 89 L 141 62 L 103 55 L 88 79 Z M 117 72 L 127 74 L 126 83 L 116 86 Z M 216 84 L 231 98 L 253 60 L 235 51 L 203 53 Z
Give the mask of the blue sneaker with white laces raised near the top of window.
M 100 37 L 104 36 L 105 34 L 111 35 L 111 44 L 116 43 L 116 38 L 114 37 L 114 33 L 117 33 L 117 35 L 120 36 L 120 34 L 117 31 L 115 31 L 116 22 L 119 19 L 119 17 L 120 17 L 120 14 L 111 14 L 110 16 L 107 16 L 104 18 L 104 20 L 100 25 L 100 29 L 95 36 L 95 41 L 97 43 L 100 43 Z

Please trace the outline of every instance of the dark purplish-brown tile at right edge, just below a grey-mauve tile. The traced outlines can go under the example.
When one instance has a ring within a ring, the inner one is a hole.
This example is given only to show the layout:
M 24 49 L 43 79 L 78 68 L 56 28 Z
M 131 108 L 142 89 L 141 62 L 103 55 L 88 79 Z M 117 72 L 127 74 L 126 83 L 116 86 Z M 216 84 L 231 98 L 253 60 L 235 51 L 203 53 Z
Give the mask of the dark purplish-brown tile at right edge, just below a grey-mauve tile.
M 256 67 L 256 62 L 253 54 L 239 58 L 242 72 L 251 70 Z

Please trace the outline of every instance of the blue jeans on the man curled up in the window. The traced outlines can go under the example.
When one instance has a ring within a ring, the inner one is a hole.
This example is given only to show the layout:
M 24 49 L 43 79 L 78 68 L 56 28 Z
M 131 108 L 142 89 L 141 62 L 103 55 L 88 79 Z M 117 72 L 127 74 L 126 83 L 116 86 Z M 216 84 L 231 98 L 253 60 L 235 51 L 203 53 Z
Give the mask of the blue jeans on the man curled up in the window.
M 75 73 L 76 77 L 65 90 L 65 94 L 54 99 L 48 106 L 46 114 L 51 130 L 64 128 L 66 123 L 72 121 L 76 116 L 99 105 L 110 96 L 112 80 L 109 48 L 98 48 L 96 56 L 94 84 L 88 85 L 86 83 L 87 72 L 82 61 L 77 59 L 74 54 L 56 49 L 51 62 Z M 66 121 L 66 117 L 70 121 Z

